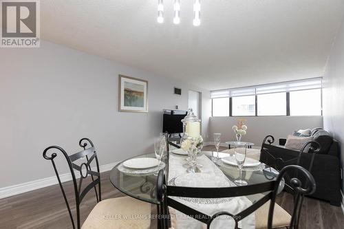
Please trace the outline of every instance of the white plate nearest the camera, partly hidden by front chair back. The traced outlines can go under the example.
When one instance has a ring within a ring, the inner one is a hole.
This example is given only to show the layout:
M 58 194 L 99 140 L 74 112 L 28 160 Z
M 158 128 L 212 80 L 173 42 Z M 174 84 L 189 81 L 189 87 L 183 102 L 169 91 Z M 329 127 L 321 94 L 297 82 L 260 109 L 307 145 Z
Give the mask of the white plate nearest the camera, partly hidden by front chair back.
M 186 173 L 176 177 L 174 184 L 175 186 L 191 188 L 220 188 L 230 186 L 228 180 L 224 177 L 209 175 L 207 173 Z

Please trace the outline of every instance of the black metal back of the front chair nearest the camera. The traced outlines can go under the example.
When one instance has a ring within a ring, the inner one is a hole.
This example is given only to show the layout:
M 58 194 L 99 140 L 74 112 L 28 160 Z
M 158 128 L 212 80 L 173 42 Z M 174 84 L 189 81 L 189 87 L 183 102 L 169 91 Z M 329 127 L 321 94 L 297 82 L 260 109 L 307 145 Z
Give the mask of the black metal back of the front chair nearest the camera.
M 258 208 L 263 206 L 267 201 L 270 200 L 270 207 L 268 211 L 268 219 L 267 220 L 267 228 L 272 228 L 272 220 L 275 210 L 275 201 L 276 196 L 278 193 L 279 183 L 284 175 L 290 171 L 298 171 L 299 175 L 303 175 L 307 182 L 305 186 L 301 183 L 301 180 L 297 177 L 292 178 L 291 186 L 294 189 L 295 199 L 297 200 L 294 203 L 294 209 L 292 212 L 292 217 L 290 220 L 290 229 L 298 228 L 298 221 L 297 216 L 301 210 L 301 205 L 299 201 L 301 200 L 302 195 L 306 195 L 308 193 L 313 193 L 316 186 L 314 182 L 314 178 L 312 175 L 301 166 L 290 165 L 284 167 L 275 182 L 268 182 L 265 184 L 254 184 L 250 186 L 237 186 L 237 187 L 230 187 L 230 188 L 189 188 L 189 187 L 178 187 L 178 186 L 167 186 L 164 177 L 164 171 L 160 171 L 158 175 L 158 184 L 157 184 L 157 197 L 160 201 L 160 212 L 164 217 L 161 221 L 161 228 L 167 229 L 169 225 L 169 211 L 168 206 L 178 210 L 189 217 L 193 217 L 202 223 L 207 225 L 207 228 L 210 228 L 211 223 L 214 219 L 221 216 L 228 216 L 235 221 L 235 229 L 238 228 L 238 222 L 247 217 L 248 215 L 255 212 Z M 254 195 L 257 193 L 265 193 L 268 194 L 264 195 L 261 199 L 253 203 L 250 207 L 246 208 L 245 210 L 239 212 L 237 215 L 232 215 L 230 212 L 217 212 L 214 215 L 205 215 L 202 212 L 199 212 L 189 206 L 186 206 L 171 197 L 191 197 L 191 198 L 226 198 L 226 197 L 237 197 L 237 196 L 244 196 L 244 195 Z M 167 215 L 167 216 L 166 216 Z

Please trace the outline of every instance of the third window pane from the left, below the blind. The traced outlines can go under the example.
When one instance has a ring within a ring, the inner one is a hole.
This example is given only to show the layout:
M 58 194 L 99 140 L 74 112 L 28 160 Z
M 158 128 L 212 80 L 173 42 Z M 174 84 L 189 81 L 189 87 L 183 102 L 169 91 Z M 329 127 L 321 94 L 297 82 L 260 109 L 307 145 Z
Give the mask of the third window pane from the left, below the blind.
M 258 116 L 286 116 L 287 94 L 273 93 L 257 96 Z

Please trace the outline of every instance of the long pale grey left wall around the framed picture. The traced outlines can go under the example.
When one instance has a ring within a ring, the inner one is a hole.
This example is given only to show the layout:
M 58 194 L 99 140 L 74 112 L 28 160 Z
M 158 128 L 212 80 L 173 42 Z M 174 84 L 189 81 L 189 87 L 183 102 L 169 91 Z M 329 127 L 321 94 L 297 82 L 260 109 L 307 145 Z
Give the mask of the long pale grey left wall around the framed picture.
M 152 151 L 162 109 L 187 109 L 188 89 L 202 92 L 202 131 L 208 131 L 209 91 L 98 56 L 42 42 L 1 49 L 0 69 L 0 187 L 53 176 L 43 149 L 58 145 L 74 153 L 83 137 L 96 144 L 102 165 Z M 118 74 L 149 81 L 149 113 L 118 112 Z M 173 86 L 182 96 L 173 95 Z

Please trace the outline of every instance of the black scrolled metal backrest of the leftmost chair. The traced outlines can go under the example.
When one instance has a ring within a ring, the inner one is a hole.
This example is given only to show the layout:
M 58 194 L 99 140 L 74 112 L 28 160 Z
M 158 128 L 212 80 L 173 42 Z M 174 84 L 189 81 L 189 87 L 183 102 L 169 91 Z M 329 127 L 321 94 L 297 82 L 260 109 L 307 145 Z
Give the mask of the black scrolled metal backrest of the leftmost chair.
M 65 199 L 65 204 L 67 206 L 67 210 L 69 213 L 69 217 L 72 221 L 72 226 L 74 229 L 80 229 L 80 203 L 83 201 L 85 195 L 94 188 L 96 193 L 97 202 L 101 201 L 101 186 L 100 186 L 100 171 L 99 171 L 99 164 L 98 164 L 98 157 L 96 153 L 96 149 L 94 148 L 94 144 L 88 138 L 83 138 L 79 141 L 79 146 L 83 148 L 82 151 L 78 153 L 74 153 L 72 155 L 67 155 L 66 151 L 62 149 L 60 146 L 49 146 L 47 149 L 43 151 L 43 157 L 46 160 L 50 160 L 52 162 L 52 166 L 54 167 L 54 171 L 56 177 L 58 179 L 58 184 L 60 185 L 61 192 L 63 194 L 63 198 Z M 89 148 L 87 148 L 89 146 Z M 58 168 L 56 167 L 56 163 L 54 159 L 57 157 L 58 153 L 62 153 L 65 157 L 65 160 L 68 164 L 69 171 L 72 175 L 72 182 L 74 186 L 74 196 L 75 196 L 75 204 L 76 204 L 76 222 L 74 221 L 74 217 L 72 214 L 72 210 L 69 204 L 69 200 L 65 194 L 65 189 L 63 188 L 63 184 L 61 182 L 60 175 L 58 174 Z M 91 163 L 96 162 L 95 168 L 92 168 Z M 80 162 L 80 163 L 76 163 Z M 92 170 L 93 169 L 93 170 Z M 78 173 L 75 173 L 75 171 Z M 80 174 L 80 175 L 79 175 Z M 91 176 L 92 182 L 89 182 L 85 188 L 82 188 L 83 180 L 86 179 L 88 176 Z M 77 182 L 77 177 L 80 177 Z M 98 186 L 98 191 L 97 187 Z

